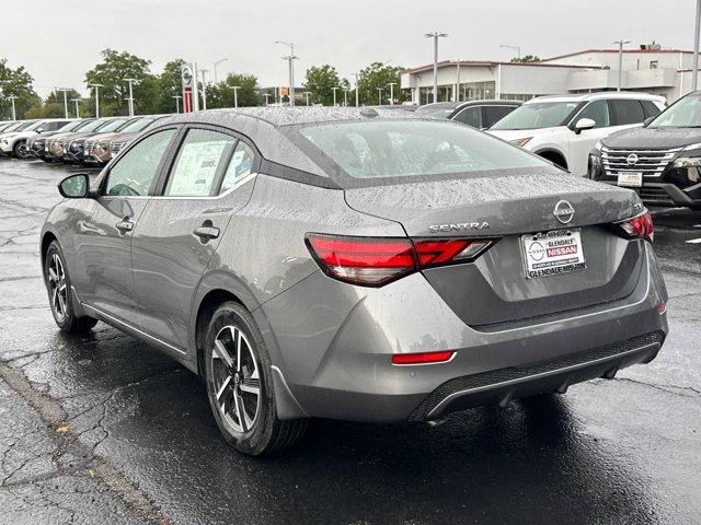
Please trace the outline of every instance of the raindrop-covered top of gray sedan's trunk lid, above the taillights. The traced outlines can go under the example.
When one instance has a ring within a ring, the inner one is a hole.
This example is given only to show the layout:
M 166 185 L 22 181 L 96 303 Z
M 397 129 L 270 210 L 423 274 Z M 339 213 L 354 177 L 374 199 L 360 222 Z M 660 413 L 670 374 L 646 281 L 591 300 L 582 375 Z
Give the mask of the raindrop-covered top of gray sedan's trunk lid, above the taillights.
M 567 228 L 616 222 L 636 213 L 640 198 L 610 186 L 551 168 L 505 170 L 464 178 L 346 189 L 357 211 L 397 221 L 411 236 L 505 235 L 562 228 L 553 211 L 567 200 L 575 214 Z M 484 226 L 487 223 L 487 226 Z

